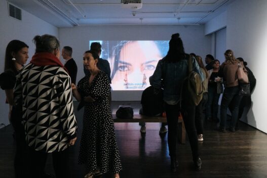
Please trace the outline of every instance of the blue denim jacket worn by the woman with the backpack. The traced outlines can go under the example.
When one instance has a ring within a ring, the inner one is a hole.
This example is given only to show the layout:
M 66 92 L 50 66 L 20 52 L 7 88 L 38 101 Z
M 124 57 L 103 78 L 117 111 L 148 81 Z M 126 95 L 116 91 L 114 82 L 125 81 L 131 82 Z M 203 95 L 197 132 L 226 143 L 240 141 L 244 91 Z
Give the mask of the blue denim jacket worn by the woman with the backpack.
M 194 57 L 193 70 L 200 74 L 204 81 L 204 74 Z M 163 100 L 171 105 L 180 101 L 181 86 L 184 78 L 188 74 L 187 59 L 180 60 L 175 63 L 167 63 L 165 59 L 159 60 L 156 70 L 149 77 L 149 82 L 155 88 L 163 88 Z

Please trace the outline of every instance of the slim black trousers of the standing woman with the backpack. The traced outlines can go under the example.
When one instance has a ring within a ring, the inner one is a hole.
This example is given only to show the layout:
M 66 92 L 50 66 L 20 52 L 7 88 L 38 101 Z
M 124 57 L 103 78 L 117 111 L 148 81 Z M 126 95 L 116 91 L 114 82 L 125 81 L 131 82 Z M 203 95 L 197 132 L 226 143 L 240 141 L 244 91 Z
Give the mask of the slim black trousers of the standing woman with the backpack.
M 188 104 L 182 104 L 182 108 L 180 108 L 179 103 L 176 105 L 169 105 L 165 103 L 168 123 L 168 146 L 169 155 L 171 157 L 176 158 L 178 116 L 181 112 L 192 150 L 193 160 L 195 161 L 199 158 L 198 136 L 195 125 L 195 108 L 196 106 L 190 106 Z

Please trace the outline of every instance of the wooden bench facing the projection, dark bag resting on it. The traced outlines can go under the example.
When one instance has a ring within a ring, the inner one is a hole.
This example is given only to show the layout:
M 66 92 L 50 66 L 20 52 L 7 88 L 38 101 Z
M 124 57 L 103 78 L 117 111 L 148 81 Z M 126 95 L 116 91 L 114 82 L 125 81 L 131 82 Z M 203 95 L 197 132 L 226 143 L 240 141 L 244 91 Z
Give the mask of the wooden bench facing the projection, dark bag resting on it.
M 140 114 L 134 114 L 132 119 L 120 119 L 116 117 L 116 114 L 112 114 L 113 116 L 113 121 L 114 122 L 167 122 L 166 117 L 162 116 L 144 116 Z M 178 117 L 178 139 L 180 143 L 185 144 L 186 140 L 186 130 L 183 122 L 182 116 Z

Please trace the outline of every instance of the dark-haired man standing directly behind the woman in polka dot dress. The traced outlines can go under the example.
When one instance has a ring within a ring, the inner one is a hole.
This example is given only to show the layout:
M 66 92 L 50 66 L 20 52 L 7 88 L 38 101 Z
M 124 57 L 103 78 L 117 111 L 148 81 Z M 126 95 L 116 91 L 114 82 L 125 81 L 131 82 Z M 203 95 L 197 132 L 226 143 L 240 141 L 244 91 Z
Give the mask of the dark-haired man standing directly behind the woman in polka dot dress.
M 90 50 L 96 52 L 98 54 L 98 56 L 100 57 L 101 51 L 102 51 L 101 47 L 102 46 L 99 42 L 92 42 L 91 46 L 90 46 Z M 110 66 L 109 66 L 108 61 L 104 60 L 102 58 L 99 58 L 99 60 L 97 62 L 97 67 L 107 74 L 108 79 L 109 79 L 109 83 L 111 83 L 111 78 L 110 78 L 111 71 L 110 71 Z M 84 72 L 85 72 L 85 75 L 89 74 L 89 71 L 86 70 L 85 68 L 84 68 Z

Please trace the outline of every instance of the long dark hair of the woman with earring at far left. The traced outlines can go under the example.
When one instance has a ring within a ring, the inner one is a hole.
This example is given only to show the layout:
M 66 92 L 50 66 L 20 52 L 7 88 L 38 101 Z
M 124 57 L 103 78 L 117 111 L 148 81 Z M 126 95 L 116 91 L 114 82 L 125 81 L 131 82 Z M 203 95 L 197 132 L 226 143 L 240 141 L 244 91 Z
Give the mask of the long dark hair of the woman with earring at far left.
M 15 61 L 12 60 L 12 53 L 18 53 L 18 51 L 25 47 L 29 48 L 29 46 L 25 42 L 17 39 L 14 39 L 8 43 L 8 46 L 6 48 L 4 71 L 11 70 L 13 72 L 17 72 L 17 69 L 14 65 Z

